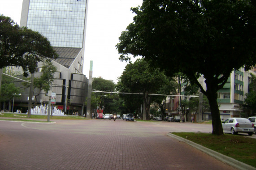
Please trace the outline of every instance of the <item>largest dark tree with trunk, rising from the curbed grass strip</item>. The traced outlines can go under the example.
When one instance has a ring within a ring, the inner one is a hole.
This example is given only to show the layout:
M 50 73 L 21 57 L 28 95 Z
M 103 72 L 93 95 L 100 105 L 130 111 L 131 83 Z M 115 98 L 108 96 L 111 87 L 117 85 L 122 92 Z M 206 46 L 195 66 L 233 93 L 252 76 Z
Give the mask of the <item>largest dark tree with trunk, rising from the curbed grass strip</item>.
M 185 73 L 209 101 L 213 134 L 223 134 L 217 90 L 230 72 L 256 64 L 254 0 L 143 0 L 117 44 L 120 59 L 141 55 L 166 74 Z M 197 81 L 203 75 L 207 89 Z

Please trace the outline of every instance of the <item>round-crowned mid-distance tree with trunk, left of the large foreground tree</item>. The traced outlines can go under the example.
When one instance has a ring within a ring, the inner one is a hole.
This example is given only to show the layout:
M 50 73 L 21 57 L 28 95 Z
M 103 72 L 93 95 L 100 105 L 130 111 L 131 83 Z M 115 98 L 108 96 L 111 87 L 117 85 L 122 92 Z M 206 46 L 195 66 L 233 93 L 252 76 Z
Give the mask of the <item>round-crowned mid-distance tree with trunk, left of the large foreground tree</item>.
M 145 120 L 150 119 L 149 109 L 152 101 L 149 93 L 156 93 L 160 87 L 168 83 L 163 72 L 151 68 L 143 59 L 127 64 L 118 81 L 120 81 L 119 85 L 122 85 L 121 88 L 117 88 L 120 92 L 143 94 L 143 119 Z

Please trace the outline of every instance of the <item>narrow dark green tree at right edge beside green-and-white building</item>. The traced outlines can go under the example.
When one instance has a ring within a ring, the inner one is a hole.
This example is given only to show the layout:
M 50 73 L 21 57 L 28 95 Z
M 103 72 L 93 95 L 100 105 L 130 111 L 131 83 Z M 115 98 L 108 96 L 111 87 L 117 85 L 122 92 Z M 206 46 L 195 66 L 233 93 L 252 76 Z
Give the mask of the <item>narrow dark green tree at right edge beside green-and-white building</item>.
M 248 93 L 245 95 L 246 98 L 244 102 L 246 106 L 252 110 L 252 115 L 256 115 L 256 76 L 252 75 L 252 81 L 249 84 Z

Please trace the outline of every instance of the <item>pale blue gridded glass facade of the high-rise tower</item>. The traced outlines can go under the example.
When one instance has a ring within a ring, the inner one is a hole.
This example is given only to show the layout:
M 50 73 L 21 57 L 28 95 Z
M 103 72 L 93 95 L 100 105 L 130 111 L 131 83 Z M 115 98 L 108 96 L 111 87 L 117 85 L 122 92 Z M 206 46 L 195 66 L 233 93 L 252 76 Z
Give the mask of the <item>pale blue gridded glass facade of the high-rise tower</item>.
M 53 47 L 82 48 L 86 0 L 30 0 L 27 27 Z

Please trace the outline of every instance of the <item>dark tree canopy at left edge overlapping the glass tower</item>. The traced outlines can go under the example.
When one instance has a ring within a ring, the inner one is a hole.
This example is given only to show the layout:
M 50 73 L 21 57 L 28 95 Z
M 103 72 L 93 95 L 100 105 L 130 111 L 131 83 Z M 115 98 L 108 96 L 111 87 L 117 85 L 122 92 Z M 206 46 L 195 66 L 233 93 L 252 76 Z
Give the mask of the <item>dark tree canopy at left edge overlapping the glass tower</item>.
M 35 72 L 37 62 L 57 56 L 47 38 L 0 15 L 0 68 L 21 66 L 27 76 Z

